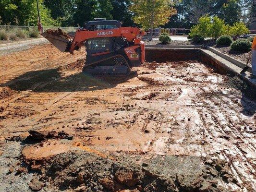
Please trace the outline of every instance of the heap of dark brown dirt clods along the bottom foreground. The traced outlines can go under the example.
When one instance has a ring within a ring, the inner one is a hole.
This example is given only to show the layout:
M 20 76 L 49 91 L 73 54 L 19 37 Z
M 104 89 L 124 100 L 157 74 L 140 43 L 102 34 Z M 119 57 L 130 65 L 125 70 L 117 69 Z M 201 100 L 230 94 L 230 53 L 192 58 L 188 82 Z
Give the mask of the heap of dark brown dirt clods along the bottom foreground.
M 220 192 L 218 182 L 237 182 L 227 163 L 221 160 L 175 156 L 162 160 L 157 156 L 152 161 L 136 164 L 136 158 L 139 156 L 131 158 L 124 154 L 112 161 L 81 151 L 60 154 L 45 159 L 31 185 L 40 182 L 41 189 L 43 183 L 49 182 L 59 190 L 71 188 L 86 192 Z M 180 161 L 189 164 L 179 165 Z

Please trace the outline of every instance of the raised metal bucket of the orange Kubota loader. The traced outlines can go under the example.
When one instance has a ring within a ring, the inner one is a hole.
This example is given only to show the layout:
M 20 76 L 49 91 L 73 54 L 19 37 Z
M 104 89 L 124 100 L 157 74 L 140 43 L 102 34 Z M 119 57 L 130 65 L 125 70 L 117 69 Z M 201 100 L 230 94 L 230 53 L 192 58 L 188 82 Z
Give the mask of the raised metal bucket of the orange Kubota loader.
M 53 46 L 58 48 L 61 52 L 68 52 L 68 45 L 69 42 L 72 41 L 72 39 L 66 39 L 61 36 L 52 35 L 49 33 L 43 33 L 43 37 L 45 37 Z

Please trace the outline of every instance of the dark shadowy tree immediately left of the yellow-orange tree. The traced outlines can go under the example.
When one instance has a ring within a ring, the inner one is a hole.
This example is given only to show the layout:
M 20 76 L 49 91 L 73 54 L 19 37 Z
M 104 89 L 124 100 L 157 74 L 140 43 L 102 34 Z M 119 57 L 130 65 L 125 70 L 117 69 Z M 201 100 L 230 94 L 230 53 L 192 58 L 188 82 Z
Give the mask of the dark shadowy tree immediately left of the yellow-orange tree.
M 131 0 L 110 0 L 113 10 L 111 14 L 114 20 L 122 21 L 123 26 L 132 26 L 133 13 L 128 9 L 132 5 Z

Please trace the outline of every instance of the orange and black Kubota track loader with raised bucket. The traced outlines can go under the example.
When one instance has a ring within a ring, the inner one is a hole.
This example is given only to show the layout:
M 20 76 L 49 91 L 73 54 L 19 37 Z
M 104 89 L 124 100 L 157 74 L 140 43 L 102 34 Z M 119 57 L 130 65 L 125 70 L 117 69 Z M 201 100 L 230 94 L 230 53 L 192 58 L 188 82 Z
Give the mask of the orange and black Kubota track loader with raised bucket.
M 128 75 L 132 67 L 145 61 L 144 32 L 138 27 L 122 27 L 122 22 L 95 19 L 77 29 L 73 38 L 47 30 L 42 34 L 62 52 L 79 50 L 85 45 L 83 72 L 91 76 Z M 62 32 L 63 33 L 63 32 Z

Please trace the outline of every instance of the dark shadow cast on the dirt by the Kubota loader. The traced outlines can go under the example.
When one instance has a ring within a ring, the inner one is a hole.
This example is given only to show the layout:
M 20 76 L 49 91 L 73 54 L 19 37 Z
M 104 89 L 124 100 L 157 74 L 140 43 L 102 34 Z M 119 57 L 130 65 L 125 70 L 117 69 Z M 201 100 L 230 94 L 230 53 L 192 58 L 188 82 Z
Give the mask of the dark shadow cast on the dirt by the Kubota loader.
M 58 69 L 49 69 L 26 72 L 5 84 L 0 84 L 0 87 L 8 86 L 16 91 L 34 92 L 95 91 L 115 87 L 136 76 L 137 72 L 131 72 L 128 76 L 89 77 L 80 72 L 61 77 Z

